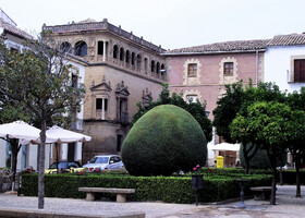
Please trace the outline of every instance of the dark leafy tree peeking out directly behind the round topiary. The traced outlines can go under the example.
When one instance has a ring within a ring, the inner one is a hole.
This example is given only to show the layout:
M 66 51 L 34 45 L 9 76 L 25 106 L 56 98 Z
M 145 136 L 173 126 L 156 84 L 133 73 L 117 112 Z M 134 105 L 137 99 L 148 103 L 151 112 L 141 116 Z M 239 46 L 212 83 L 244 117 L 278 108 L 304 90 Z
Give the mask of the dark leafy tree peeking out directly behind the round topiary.
M 212 138 L 212 125 L 211 121 L 206 116 L 206 105 L 202 105 L 199 101 L 193 102 L 191 100 L 186 102 L 182 98 L 182 95 L 178 95 L 176 93 L 173 93 L 172 96 L 170 96 L 169 85 L 163 84 L 162 86 L 162 92 L 160 93 L 159 99 L 157 101 L 149 102 L 147 107 L 143 107 L 141 102 L 137 104 L 138 111 L 134 114 L 132 123 L 134 124 L 142 116 L 144 116 L 147 111 L 155 108 L 156 106 L 174 105 L 183 108 L 195 118 L 195 120 L 202 126 L 207 142 L 210 142 Z

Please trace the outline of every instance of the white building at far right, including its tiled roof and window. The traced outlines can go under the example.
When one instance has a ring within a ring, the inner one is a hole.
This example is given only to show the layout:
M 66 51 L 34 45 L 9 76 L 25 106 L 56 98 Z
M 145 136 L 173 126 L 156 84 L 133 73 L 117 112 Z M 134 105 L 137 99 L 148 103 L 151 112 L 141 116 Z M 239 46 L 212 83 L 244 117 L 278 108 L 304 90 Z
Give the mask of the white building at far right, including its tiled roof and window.
M 264 82 L 281 90 L 300 90 L 305 85 L 305 34 L 274 36 L 265 52 Z

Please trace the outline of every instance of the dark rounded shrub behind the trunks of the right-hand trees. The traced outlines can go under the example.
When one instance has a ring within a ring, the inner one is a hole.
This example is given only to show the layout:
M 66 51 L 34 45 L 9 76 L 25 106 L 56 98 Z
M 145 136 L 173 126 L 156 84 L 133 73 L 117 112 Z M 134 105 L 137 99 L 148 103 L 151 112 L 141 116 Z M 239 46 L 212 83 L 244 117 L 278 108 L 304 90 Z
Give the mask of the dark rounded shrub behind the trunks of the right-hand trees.
M 243 153 L 244 145 L 241 144 L 240 160 L 243 168 L 245 168 L 245 158 Z M 254 153 L 251 150 L 249 155 Z M 277 167 L 283 167 L 286 164 L 286 154 L 277 158 Z M 249 160 L 249 169 L 269 169 L 270 162 L 265 149 L 258 148 L 254 157 Z

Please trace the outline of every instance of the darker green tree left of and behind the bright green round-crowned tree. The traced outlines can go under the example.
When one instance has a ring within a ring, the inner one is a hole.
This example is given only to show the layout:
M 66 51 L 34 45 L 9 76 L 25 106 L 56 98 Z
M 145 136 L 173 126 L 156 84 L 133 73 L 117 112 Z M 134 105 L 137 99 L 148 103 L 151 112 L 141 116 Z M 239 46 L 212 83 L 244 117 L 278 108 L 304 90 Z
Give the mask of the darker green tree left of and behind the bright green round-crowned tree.
M 217 101 L 217 108 L 213 110 L 213 126 L 218 135 L 222 136 L 228 143 L 236 143 L 231 137 L 230 124 L 235 119 L 237 112 L 246 112 L 247 107 L 256 101 L 276 100 L 284 102 L 285 94 L 279 89 L 279 86 L 272 83 L 258 83 L 254 87 L 252 80 L 243 88 L 243 81 L 232 85 L 225 85 L 227 94 Z M 245 160 L 245 173 L 248 173 L 249 161 L 255 156 L 259 145 L 248 142 L 242 146 L 242 155 Z

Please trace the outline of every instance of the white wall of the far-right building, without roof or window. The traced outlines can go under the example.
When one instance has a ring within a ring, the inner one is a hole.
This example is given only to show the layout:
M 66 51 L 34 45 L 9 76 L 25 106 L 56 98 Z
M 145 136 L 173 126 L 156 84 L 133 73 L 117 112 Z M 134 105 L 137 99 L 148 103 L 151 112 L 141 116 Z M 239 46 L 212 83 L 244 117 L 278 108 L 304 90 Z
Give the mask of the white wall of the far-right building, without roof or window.
M 304 83 L 289 83 L 293 73 L 293 57 L 305 59 L 305 46 L 273 46 L 265 53 L 265 82 L 274 82 L 281 90 L 298 90 Z

